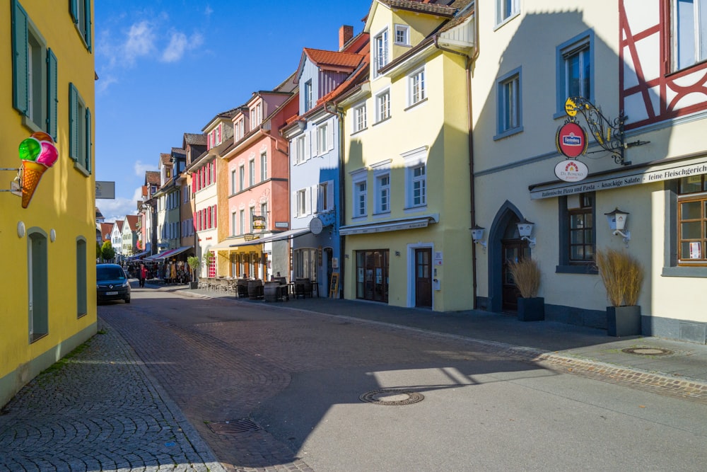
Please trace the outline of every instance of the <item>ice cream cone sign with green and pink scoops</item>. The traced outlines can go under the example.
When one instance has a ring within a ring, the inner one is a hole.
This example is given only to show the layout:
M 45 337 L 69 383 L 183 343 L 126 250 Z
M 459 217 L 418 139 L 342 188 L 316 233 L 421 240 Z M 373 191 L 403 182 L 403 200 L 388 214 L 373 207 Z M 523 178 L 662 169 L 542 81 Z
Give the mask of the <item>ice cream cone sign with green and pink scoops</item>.
M 57 162 L 59 151 L 57 146 L 54 146 L 54 139 L 44 132 L 32 133 L 30 137 L 23 139 L 18 151 L 22 161 L 22 207 L 27 208 L 42 175 Z

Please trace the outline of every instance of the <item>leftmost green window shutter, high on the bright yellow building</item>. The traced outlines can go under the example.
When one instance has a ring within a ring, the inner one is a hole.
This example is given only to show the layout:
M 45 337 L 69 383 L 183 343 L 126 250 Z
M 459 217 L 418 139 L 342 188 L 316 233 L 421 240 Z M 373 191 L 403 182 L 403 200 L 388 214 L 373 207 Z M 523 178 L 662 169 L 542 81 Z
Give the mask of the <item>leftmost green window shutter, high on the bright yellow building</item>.
M 29 113 L 27 13 L 17 0 L 12 0 L 12 106 Z

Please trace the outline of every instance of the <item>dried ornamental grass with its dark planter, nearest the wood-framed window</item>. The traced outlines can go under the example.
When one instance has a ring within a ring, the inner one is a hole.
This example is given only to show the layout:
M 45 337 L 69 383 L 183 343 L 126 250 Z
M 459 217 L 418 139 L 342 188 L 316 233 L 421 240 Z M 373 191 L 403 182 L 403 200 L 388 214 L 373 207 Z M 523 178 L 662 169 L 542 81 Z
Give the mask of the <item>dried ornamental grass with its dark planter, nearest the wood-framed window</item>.
M 643 267 L 626 251 L 597 251 L 597 268 L 607 290 L 607 333 L 609 336 L 641 334 L 641 306 L 638 295 L 643 285 Z

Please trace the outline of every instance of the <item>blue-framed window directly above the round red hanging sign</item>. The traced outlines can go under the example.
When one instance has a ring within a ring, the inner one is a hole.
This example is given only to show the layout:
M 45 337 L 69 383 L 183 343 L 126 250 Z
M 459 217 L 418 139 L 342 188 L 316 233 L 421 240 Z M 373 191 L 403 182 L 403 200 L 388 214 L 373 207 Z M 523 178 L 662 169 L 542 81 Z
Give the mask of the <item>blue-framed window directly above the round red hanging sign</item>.
M 569 97 L 594 100 L 594 32 L 588 30 L 556 48 L 556 114 L 565 115 Z

